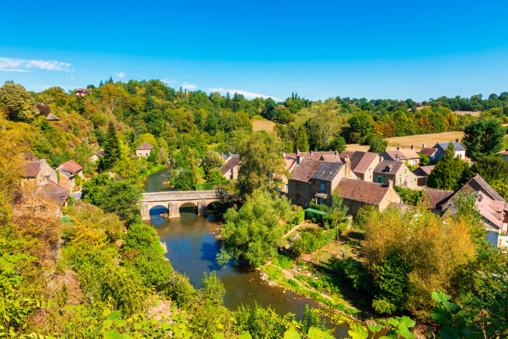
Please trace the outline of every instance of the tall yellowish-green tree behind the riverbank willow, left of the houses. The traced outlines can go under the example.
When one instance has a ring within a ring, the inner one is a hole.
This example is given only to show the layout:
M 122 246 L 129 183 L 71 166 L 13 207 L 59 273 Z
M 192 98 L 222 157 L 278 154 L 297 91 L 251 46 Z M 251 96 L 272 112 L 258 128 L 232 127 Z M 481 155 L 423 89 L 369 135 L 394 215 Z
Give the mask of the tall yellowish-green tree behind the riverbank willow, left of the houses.
M 241 194 L 251 194 L 256 189 L 275 190 L 282 185 L 284 161 L 280 157 L 282 143 L 273 132 L 252 133 L 238 147 L 241 166 L 237 187 Z

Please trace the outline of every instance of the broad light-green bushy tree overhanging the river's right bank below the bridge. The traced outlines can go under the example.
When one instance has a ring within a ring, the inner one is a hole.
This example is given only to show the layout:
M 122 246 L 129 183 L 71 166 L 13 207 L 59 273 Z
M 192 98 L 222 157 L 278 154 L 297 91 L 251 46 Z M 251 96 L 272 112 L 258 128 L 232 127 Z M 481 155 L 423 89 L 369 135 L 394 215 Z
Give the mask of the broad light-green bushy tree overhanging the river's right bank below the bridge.
M 269 192 L 256 191 L 247 196 L 240 209 L 232 207 L 224 215 L 224 227 L 217 262 L 225 265 L 232 257 L 261 266 L 277 253 L 284 234 L 281 220 L 294 218 L 295 212 L 287 198 L 273 197 Z

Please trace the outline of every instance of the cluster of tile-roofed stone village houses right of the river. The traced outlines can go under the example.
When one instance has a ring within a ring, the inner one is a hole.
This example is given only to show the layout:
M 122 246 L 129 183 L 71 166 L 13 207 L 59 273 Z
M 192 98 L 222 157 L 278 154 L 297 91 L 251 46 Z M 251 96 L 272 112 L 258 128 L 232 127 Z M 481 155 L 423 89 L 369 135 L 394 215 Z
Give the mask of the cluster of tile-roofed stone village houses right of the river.
M 455 156 L 465 159 L 465 149 L 459 140 L 452 142 Z M 423 203 L 441 215 L 443 222 L 457 212 L 454 200 L 459 194 L 473 194 L 488 230 L 487 239 L 495 246 L 508 244 L 508 203 L 480 176 L 475 175 L 457 192 L 427 189 L 427 177 L 434 165 L 421 166 L 415 171 L 408 167 L 420 163 L 419 154 L 431 160 L 439 160 L 449 143 L 439 142 L 427 148 L 424 144 L 417 153 L 413 146 L 397 147 L 382 155 L 363 151 L 309 151 L 283 153 L 285 169 L 290 172 L 284 178 L 287 195 L 293 204 L 308 208 L 310 203 L 331 204 L 332 194 L 342 197 L 350 214 L 355 215 L 360 207 L 376 206 L 379 210 L 397 207 L 402 211 L 409 208 L 402 203 L 394 186 L 403 189 L 423 190 Z M 508 162 L 508 150 L 501 153 Z

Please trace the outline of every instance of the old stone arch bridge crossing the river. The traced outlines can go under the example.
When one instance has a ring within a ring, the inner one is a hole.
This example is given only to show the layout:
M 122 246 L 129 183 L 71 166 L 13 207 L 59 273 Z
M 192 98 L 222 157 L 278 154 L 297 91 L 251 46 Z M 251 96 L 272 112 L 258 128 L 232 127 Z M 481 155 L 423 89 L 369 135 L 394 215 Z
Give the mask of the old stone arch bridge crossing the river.
M 141 202 L 141 219 L 150 219 L 150 209 L 155 206 L 164 206 L 168 209 L 170 218 L 179 217 L 179 208 L 185 203 L 198 207 L 198 215 L 206 215 L 206 207 L 217 201 L 216 191 L 168 191 L 143 193 Z

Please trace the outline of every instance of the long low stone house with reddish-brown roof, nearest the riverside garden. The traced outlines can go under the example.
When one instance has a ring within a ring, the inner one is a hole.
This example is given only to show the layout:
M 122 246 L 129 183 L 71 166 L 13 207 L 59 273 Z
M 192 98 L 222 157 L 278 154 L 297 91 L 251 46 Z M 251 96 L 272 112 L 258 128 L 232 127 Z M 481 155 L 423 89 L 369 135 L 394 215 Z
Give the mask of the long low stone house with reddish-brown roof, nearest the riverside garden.
M 402 199 L 394 190 L 393 181 L 391 180 L 383 184 L 342 178 L 334 193 L 338 193 L 342 197 L 348 212 L 353 216 L 365 205 L 373 205 L 383 211 L 391 203 L 402 203 Z

